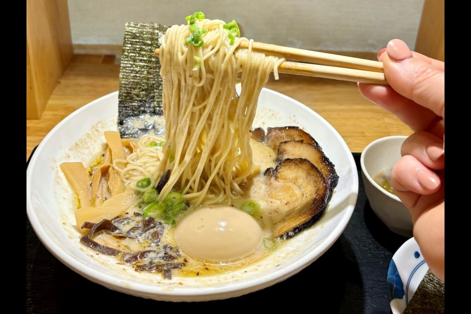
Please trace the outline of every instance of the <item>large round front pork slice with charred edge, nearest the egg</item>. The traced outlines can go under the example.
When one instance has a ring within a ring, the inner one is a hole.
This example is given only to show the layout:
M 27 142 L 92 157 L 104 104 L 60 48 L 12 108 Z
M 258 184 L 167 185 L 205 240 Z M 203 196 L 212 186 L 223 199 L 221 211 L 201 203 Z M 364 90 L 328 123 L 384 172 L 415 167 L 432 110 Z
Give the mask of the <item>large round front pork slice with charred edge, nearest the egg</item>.
M 304 158 L 285 159 L 265 173 L 265 219 L 274 237 L 289 238 L 319 219 L 330 198 L 320 171 Z M 301 228 L 302 227 L 302 228 Z

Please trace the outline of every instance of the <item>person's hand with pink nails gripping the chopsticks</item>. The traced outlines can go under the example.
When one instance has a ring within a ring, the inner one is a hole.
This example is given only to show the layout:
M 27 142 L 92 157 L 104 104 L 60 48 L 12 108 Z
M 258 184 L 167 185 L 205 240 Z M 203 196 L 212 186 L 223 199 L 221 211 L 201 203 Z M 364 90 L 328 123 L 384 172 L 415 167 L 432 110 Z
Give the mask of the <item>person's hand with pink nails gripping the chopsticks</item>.
M 425 261 L 445 281 L 445 63 L 411 52 L 399 39 L 378 60 L 390 86 L 358 87 L 414 131 L 392 169 L 392 188 L 412 214 Z

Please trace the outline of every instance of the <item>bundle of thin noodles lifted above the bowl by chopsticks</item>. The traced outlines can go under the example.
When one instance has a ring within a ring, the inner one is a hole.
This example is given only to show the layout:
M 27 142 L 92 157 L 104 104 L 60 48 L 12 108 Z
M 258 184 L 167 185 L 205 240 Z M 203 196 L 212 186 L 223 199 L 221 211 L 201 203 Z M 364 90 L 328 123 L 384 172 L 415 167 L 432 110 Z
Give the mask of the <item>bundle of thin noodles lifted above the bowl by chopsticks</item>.
M 157 173 L 171 170 L 160 193 L 178 189 L 194 206 L 230 203 L 252 174 L 250 131 L 257 101 L 271 71 L 283 61 L 236 50 L 220 20 L 196 20 L 204 44 L 185 44 L 188 25 L 172 26 L 159 50 L 163 78 L 165 144 Z M 243 69 L 240 79 L 237 74 Z M 240 96 L 235 84 L 240 82 Z

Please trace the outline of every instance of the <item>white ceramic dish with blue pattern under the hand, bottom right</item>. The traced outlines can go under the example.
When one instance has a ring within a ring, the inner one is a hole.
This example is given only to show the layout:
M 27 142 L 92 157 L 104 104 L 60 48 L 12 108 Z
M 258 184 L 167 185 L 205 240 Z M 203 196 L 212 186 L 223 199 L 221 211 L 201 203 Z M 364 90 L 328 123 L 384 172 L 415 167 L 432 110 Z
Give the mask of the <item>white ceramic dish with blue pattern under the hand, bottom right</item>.
M 394 253 L 387 280 L 392 314 L 404 312 L 427 270 L 428 265 L 413 237 Z

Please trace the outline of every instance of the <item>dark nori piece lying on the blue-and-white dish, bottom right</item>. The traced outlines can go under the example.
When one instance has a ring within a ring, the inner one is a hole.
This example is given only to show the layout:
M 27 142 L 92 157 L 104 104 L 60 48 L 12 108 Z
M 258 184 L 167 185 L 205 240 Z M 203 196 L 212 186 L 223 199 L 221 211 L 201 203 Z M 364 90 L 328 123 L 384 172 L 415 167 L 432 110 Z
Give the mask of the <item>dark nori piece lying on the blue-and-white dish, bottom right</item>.
M 418 313 L 445 313 L 445 283 L 435 277 L 430 270 L 423 277 L 403 312 L 403 314 Z

